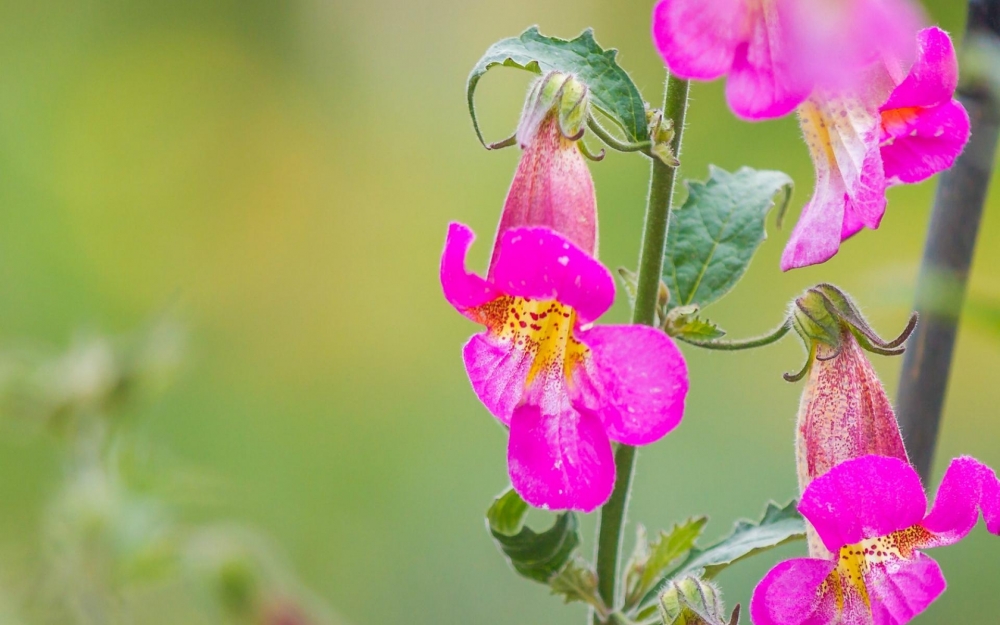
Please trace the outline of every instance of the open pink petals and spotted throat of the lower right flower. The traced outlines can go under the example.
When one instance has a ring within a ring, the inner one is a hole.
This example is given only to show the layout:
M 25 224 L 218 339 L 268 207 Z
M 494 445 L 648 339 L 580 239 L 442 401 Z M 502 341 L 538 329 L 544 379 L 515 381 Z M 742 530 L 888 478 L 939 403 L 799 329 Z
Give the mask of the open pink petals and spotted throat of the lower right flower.
M 927 513 L 916 471 L 895 458 L 865 456 L 833 468 L 806 489 L 799 511 L 829 559 L 778 564 L 754 590 L 755 625 L 902 625 L 945 589 L 922 550 L 958 542 L 982 510 L 1000 534 L 1000 481 L 969 457 L 951 461 Z

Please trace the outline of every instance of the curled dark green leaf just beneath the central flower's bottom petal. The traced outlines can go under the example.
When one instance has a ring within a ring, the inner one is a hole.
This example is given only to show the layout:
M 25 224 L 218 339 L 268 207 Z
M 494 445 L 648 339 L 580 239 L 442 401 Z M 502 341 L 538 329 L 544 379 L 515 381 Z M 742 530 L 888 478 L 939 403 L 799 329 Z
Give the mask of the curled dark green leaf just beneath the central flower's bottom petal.
M 564 512 L 548 530 L 537 533 L 524 527 L 528 504 L 513 489 L 493 501 L 486 520 L 497 548 L 518 573 L 549 583 L 569 561 L 580 544 L 576 515 Z

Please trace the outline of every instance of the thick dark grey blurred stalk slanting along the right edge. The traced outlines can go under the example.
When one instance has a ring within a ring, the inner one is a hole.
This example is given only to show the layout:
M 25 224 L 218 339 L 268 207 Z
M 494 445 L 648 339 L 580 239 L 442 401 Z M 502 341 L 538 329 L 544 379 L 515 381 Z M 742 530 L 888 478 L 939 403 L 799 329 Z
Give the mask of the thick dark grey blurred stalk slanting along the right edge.
M 995 74 L 990 61 L 1000 54 L 1000 0 L 969 1 L 963 48 L 963 60 L 978 48 L 985 57 L 980 64 L 985 61 L 986 73 Z M 903 441 L 925 483 L 1000 132 L 996 80 L 995 75 L 983 75 L 959 87 L 972 137 L 955 165 L 941 174 L 917 279 L 920 323 L 906 346 L 897 404 Z

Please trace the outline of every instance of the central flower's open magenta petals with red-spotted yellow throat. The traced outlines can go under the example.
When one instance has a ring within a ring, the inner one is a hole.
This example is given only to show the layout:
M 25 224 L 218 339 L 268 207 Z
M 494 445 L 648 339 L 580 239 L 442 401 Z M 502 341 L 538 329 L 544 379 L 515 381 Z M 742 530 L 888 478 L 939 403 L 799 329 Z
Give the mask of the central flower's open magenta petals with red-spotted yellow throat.
M 547 228 L 513 228 L 485 280 L 465 268 L 474 235 L 448 229 L 445 298 L 486 326 L 464 348 L 472 387 L 510 428 L 514 489 L 536 507 L 590 511 L 611 495 L 611 441 L 645 445 L 678 423 L 687 366 L 663 332 L 596 326 L 611 274 Z M 641 349 L 638 348 L 641 346 Z

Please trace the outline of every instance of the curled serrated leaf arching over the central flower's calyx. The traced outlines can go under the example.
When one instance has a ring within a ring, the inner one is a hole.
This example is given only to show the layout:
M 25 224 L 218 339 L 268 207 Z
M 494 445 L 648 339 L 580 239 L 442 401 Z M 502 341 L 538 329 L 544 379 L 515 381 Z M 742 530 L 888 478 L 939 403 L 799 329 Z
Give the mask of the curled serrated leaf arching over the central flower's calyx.
M 466 83 L 469 114 L 476 136 L 486 145 L 476 118 L 476 85 L 491 67 L 516 67 L 535 74 L 560 71 L 574 74 L 590 89 L 591 103 L 625 131 L 632 142 L 649 139 L 646 105 L 628 73 L 618 65 L 618 50 L 604 50 L 587 29 L 576 39 L 546 37 L 532 26 L 520 37 L 501 39 L 486 50 Z

